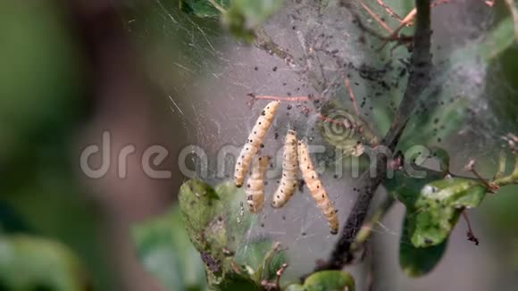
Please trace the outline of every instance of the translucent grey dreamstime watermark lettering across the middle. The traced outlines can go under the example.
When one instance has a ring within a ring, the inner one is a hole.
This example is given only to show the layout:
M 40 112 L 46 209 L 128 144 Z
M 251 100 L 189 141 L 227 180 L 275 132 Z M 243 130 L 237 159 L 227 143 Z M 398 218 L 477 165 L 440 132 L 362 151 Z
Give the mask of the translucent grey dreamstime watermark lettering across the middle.
M 90 179 L 103 178 L 112 167 L 116 167 L 117 176 L 121 179 L 128 177 L 129 155 L 136 154 L 135 145 L 125 145 L 117 153 L 113 153 L 112 135 L 104 131 L 101 145 L 88 145 L 83 149 L 79 157 L 81 171 Z M 416 166 L 422 164 L 431 157 L 431 151 L 423 145 L 414 145 L 405 153 L 394 154 L 385 146 L 366 147 L 364 156 L 369 161 L 367 166 L 360 162 L 359 157 L 351 156 L 344 159 L 343 152 L 336 149 L 330 154 L 325 145 L 308 145 L 313 156 L 314 168 L 317 172 L 330 172 L 335 178 L 344 176 L 345 170 L 351 178 L 360 177 L 364 170 L 369 170 L 369 175 L 375 178 L 378 173 L 379 158 L 387 159 L 387 178 L 394 176 L 395 170 L 404 170 L 414 178 L 424 178 L 426 171 Z M 215 156 L 210 157 L 205 149 L 199 145 L 188 145 L 181 149 L 178 155 L 178 170 L 187 178 L 199 179 L 228 179 L 232 177 L 236 158 L 241 147 L 236 145 L 223 145 Z M 116 162 L 112 155 L 116 154 Z M 283 148 L 279 148 L 272 154 L 271 169 L 267 171 L 267 179 L 279 179 L 282 171 Z M 90 159 L 98 155 L 100 165 L 96 168 L 90 165 Z M 140 157 L 140 167 L 147 177 L 151 179 L 171 179 L 171 170 L 156 170 L 169 157 L 169 150 L 163 145 L 147 146 Z M 401 159 L 403 157 L 403 159 Z M 113 164 L 114 163 L 114 164 Z

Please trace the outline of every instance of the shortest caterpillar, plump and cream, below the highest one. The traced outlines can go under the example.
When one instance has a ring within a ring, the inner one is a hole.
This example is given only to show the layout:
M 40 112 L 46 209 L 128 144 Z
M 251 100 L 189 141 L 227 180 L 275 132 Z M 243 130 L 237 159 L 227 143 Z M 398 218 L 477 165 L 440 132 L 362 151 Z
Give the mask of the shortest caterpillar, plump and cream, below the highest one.
M 252 213 L 261 212 L 264 204 L 264 174 L 270 164 L 269 156 L 254 159 L 252 174 L 246 180 L 246 204 Z

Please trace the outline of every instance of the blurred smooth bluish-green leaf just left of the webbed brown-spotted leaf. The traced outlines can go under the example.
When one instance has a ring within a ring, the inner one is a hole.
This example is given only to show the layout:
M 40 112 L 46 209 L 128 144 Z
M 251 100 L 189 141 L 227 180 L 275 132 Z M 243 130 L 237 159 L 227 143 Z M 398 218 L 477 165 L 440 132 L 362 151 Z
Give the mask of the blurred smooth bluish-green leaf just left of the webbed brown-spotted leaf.
M 144 268 L 167 290 L 206 289 L 204 266 L 183 228 L 179 208 L 131 230 Z

